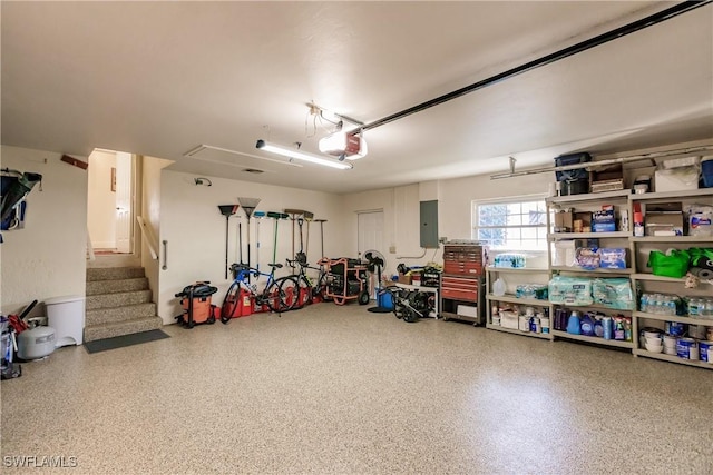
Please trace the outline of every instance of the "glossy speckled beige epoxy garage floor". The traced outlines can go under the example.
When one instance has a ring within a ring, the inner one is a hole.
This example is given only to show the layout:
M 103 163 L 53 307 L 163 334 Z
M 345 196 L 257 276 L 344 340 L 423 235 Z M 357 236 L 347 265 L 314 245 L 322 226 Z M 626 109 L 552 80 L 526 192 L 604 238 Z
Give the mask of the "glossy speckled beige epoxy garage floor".
M 165 331 L 2 382 L 3 468 L 713 473 L 710 370 L 356 305 Z

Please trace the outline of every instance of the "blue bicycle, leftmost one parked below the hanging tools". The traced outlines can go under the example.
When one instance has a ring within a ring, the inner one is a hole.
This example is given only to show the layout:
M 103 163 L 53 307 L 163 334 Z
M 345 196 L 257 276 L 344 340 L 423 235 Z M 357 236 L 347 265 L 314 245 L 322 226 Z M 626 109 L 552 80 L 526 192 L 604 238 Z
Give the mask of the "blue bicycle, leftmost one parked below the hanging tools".
M 264 274 L 243 264 L 233 264 L 231 266 L 235 279 L 223 299 L 221 321 L 227 324 L 235 317 L 241 305 L 241 289 L 250 294 L 250 298 L 254 299 L 256 306 L 266 305 L 271 311 L 279 314 L 291 310 L 297 304 L 297 281 L 292 277 L 275 279 L 275 269 L 282 268 L 282 264 L 270 264 L 270 267 L 272 267 L 270 274 Z M 248 284 L 248 279 L 250 277 L 258 279 L 261 276 L 266 277 L 267 281 L 262 291 L 257 291 L 257 285 Z

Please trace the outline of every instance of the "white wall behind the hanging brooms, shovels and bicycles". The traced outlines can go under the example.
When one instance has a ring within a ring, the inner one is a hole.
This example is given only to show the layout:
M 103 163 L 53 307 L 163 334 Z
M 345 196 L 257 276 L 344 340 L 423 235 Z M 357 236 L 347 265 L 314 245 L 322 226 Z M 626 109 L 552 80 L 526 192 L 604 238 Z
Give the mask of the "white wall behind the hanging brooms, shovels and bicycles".
M 160 289 L 158 315 L 166 324 L 175 323 L 180 314 L 175 294 L 196 280 L 209 280 L 218 287 L 214 304 L 221 304 L 231 283 L 225 279 L 225 226 L 226 218 L 218 205 L 237 205 L 237 197 L 260 198 L 257 210 L 283 211 L 304 209 L 314 214 L 315 219 L 326 219 L 324 224 L 325 254 L 341 256 L 346 253 L 342 198 L 331 194 L 251 184 L 208 177 L 212 186 L 196 186 L 194 175 L 162 170 L 160 182 L 160 236 L 167 241 L 167 269 L 159 270 Z M 236 261 L 237 225 L 242 224 L 243 260 L 247 261 L 247 219 L 242 208 L 229 218 L 228 264 Z M 268 271 L 272 261 L 274 220 L 263 219 L 260 224 L 260 265 Z M 251 265 L 257 264 L 256 243 L 257 219 L 251 219 Z M 306 234 L 306 225 L 305 225 Z M 282 220 L 277 232 L 277 263 L 284 264 L 292 254 L 292 222 Z M 310 248 L 307 257 L 315 263 L 321 256 L 319 225 L 310 226 Z M 299 249 L 299 237 L 297 245 Z M 291 257 L 292 258 L 292 257 Z M 162 264 L 163 260 L 162 260 Z M 289 274 L 282 269 L 281 275 Z

